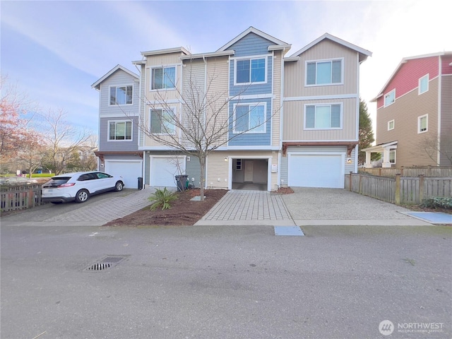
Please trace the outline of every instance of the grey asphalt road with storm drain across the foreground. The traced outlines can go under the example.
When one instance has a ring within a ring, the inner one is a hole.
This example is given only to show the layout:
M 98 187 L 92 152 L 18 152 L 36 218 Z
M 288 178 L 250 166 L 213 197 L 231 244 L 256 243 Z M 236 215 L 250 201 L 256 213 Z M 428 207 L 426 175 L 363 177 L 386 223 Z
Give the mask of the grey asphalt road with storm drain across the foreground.
M 451 227 L 303 231 L 2 226 L 1 338 L 452 337 Z

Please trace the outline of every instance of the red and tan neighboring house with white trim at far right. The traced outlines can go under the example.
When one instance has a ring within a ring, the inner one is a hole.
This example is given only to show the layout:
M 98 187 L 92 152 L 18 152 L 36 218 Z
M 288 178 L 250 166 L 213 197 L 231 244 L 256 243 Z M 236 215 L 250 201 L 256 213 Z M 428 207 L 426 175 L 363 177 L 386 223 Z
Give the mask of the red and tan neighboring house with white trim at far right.
M 376 102 L 382 167 L 452 165 L 452 52 L 403 58 Z

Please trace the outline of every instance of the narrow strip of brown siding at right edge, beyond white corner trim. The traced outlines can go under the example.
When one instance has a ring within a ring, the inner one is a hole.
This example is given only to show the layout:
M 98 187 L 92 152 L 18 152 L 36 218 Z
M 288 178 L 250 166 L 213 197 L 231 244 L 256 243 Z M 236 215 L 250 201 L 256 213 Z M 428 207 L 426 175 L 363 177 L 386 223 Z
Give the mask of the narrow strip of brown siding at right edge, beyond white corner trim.
M 441 83 L 441 166 L 451 166 L 452 155 L 452 75 Z M 448 155 L 448 157 L 446 156 Z

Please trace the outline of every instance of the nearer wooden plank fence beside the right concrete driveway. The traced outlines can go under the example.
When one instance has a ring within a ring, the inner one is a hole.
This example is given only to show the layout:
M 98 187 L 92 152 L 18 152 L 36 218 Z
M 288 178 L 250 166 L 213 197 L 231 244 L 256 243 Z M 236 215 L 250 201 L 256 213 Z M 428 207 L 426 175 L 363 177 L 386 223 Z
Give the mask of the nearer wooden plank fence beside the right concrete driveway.
M 451 177 L 378 177 L 370 174 L 345 174 L 345 189 L 388 203 L 421 203 L 424 198 L 452 196 Z

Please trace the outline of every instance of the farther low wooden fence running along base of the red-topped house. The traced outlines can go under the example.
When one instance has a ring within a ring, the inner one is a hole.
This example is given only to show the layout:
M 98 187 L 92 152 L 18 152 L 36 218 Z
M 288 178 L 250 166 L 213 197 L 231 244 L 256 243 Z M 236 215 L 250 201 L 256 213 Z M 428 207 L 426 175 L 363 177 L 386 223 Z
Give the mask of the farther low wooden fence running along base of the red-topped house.
M 389 168 L 359 168 L 359 172 L 366 172 L 379 177 L 452 177 L 452 167 L 425 166 L 425 167 L 389 167 Z

